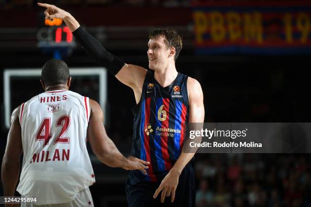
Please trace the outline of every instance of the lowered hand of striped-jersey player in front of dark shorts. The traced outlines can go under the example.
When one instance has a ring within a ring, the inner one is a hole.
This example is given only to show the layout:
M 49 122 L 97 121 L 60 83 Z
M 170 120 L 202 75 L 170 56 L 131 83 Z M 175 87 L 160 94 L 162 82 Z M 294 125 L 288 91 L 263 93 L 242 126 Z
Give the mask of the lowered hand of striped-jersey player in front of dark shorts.
M 165 200 L 165 196 L 171 196 L 171 202 L 175 199 L 175 191 L 178 185 L 179 174 L 170 170 L 169 173 L 162 180 L 159 188 L 155 191 L 153 198 L 157 198 L 159 193 L 161 194 L 161 202 L 163 203 Z

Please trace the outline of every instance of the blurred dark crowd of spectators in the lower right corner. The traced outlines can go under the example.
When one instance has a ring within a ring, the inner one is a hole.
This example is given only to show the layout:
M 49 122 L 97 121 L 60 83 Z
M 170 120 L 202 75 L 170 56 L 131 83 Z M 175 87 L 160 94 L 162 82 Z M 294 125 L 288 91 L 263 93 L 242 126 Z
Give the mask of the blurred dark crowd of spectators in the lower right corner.
M 309 156 L 197 156 L 196 206 L 310 206 Z

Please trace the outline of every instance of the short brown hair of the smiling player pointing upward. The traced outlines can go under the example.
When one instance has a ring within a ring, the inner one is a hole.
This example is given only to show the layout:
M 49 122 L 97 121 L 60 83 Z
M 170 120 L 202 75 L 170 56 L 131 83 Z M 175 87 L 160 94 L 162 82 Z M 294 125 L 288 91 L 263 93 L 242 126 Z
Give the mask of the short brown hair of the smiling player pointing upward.
M 182 38 L 177 33 L 175 29 L 169 29 L 169 28 L 158 28 L 154 29 L 149 34 L 149 39 L 157 39 L 159 37 L 165 38 L 165 43 L 168 46 L 168 48 L 175 47 L 175 56 L 174 60 L 177 60 L 177 57 L 179 55 L 179 52 L 182 48 Z

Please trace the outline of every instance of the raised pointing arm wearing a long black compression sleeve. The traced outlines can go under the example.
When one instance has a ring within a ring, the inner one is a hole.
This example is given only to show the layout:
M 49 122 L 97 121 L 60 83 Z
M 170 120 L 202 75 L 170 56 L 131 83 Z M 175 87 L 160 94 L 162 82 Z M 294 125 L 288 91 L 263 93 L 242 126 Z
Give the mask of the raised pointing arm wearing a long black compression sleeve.
M 45 18 L 52 20 L 53 18 L 63 19 L 76 40 L 82 45 L 85 51 L 101 66 L 107 68 L 120 82 L 131 87 L 136 94 L 144 82 L 147 70 L 136 66 L 126 64 L 118 57 L 107 51 L 103 45 L 88 34 L 79 24 L 79 22 L 67 11 L 60 9 L 54 5 L 38 3 L 39 6 L 45 7 Z M 136 97 L 136 99 L 140 99 Z

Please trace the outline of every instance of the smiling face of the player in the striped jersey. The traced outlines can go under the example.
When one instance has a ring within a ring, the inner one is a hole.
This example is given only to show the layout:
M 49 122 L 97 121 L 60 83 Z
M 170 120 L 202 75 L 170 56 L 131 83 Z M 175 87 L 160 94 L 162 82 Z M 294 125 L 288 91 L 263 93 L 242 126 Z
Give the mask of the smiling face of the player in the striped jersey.
M 174 62 L 174 54 L 175 48 L 169 48 L 163 36 L 149 40 L 147 55 L 151 70 L 166 68 L 170 61 Z

